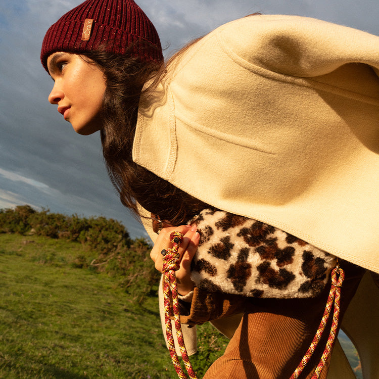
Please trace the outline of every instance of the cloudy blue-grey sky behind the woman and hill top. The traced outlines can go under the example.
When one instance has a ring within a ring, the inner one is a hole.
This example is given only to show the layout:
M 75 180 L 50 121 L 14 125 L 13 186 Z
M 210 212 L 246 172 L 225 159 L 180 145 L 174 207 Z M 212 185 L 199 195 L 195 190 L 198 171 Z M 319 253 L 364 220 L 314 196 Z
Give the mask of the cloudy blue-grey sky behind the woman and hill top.
M 39 53 L 45 31 L 80 0 L 0 2 L 0 208 L 30 204 L 106 216 L 145 235 L 108 179 L 100 135 L 76 134 L 47 97 L 53 85 Z M 166 56 L 215 27 L 254 12 L 320 18 L 379 35 L 377 0 L 137 0 Z

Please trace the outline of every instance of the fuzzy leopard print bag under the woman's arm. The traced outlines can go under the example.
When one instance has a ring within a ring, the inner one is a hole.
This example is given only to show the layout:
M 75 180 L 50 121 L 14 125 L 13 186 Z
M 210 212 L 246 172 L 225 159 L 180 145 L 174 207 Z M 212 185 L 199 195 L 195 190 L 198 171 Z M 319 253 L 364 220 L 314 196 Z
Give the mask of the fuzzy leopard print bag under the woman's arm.
M 192 261 L 195 286 L 257 298 L 311 298 L 324 289 L 336 257 L 263 222 L 203 210 Z

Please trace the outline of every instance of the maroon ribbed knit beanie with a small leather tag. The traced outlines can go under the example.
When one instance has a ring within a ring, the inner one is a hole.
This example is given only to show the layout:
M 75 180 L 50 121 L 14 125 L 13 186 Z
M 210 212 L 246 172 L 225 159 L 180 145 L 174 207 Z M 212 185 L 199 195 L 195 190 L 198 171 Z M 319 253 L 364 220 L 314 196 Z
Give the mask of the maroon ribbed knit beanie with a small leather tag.
M 146 61 L 163 60 L 161 42 L 153 23 L 133 0 L 86 0 L 63 15 L 46 32 L 41 62 L 57 51 L 85 53 L 104 44 L 116 54 L 129 52 Z M 48 71 L 49 72 L 49 71 Z

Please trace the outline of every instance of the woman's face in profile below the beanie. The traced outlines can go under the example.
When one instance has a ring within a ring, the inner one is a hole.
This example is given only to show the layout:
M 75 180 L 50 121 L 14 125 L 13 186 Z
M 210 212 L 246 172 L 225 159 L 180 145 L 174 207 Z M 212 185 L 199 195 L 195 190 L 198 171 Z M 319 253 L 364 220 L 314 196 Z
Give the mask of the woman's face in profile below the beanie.
M 106 88 L 103 71 L 92 61 L 65 52 L 49 56 L 48 68 L 54 80 L 49 102 L 58 105 L 58 112 L 77 133 L 88 135 L 100 130 Z

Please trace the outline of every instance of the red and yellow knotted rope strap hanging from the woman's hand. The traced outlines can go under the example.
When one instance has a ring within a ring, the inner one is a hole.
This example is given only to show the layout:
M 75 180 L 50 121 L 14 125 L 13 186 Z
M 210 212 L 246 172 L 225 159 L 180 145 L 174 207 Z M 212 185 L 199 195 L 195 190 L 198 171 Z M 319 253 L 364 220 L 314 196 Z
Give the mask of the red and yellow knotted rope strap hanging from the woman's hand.
M 171 324 L 171 300 L 172 300 L 172 309 L 174 314 L 176 337 L 178 339 L 178 344 L 180 348 L 180 354 L 184 362 L 185 369 L 188 372 L 190 379 L 197 379 L 196 373 L 192 368 L 191 362 L 189 362 L 187 350 L 184 345 L 183 333 L 181 330 L 180 324 L 180 311 L 178 304 L 178 292 L 177 292 L 177 283 L 175 271 L 179 269 L 179 245 L 183 241 L 183 234 L 178 231 L 173 231 L 170 234 L 170 241 L 173 243 L 171 249 L 162 250 L 161 254 L 163 255 L 163 293 L 164 293 L 164 305 L 165 305 L 165 323 L 166 323 L 166 336 L 168 342 L 168 349 L 170 351 L 171 360 L 174 364 L 176 373 L 180 379 L 186 379 L 178 356 L 175 351 L 174 338 L 172 336 L 172 324 Z

